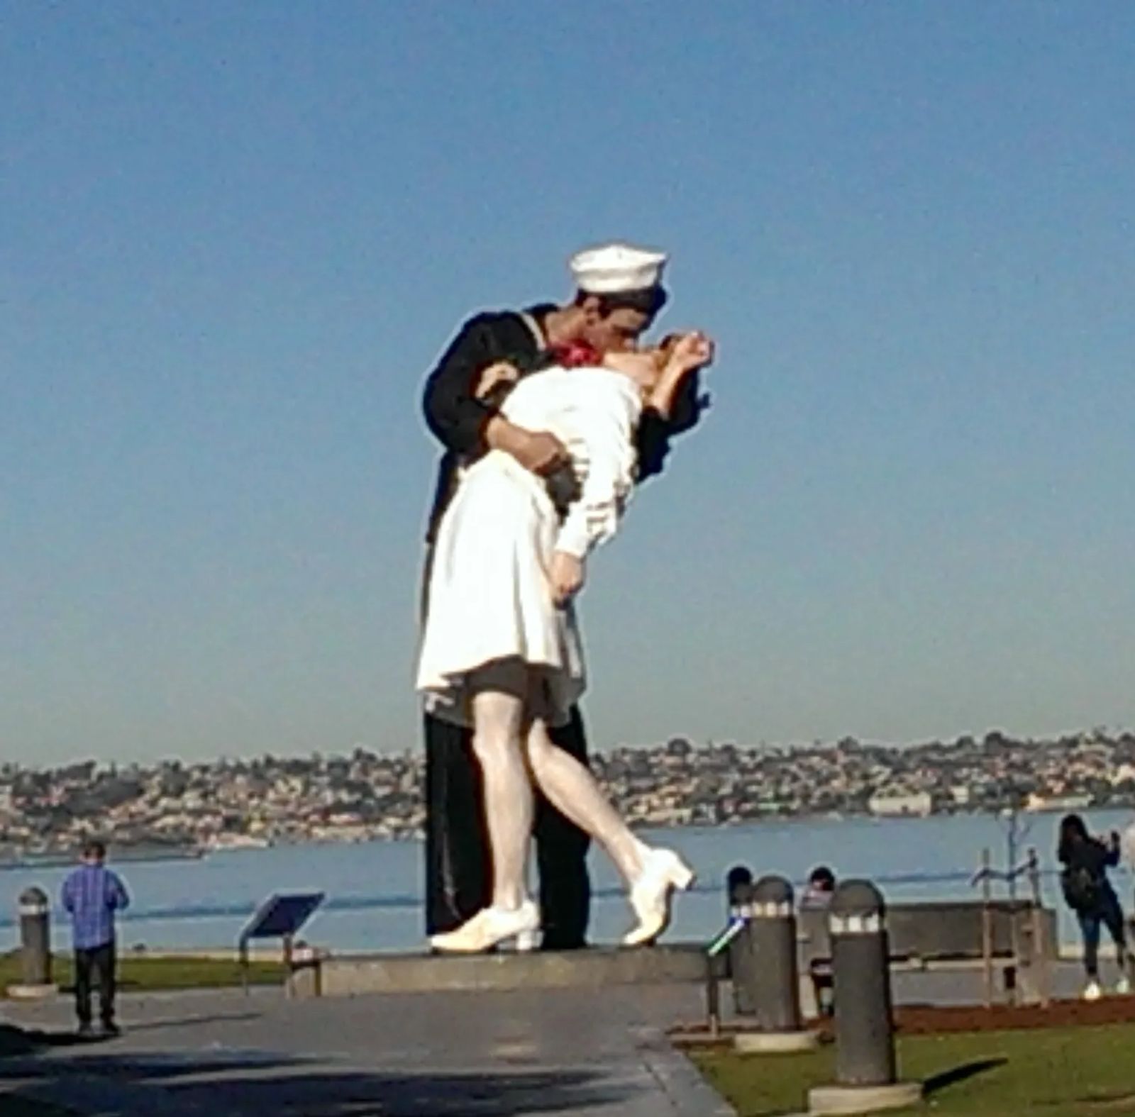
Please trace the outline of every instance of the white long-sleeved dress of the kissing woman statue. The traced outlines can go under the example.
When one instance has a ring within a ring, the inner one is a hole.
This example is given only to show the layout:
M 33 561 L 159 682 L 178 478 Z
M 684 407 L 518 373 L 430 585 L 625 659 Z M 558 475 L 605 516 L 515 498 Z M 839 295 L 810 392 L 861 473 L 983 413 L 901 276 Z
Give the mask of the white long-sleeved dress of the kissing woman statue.
M 554 604 L 548 564 L 614 534 L 633 488 L 641 397 L 622 373 L 553 368 L 521 380 L 501 410 L 564 443 L 580 497 L 561 520 L 544 481 L 503 451 L 463 471 L 434 544 L 417 687 L 435 716 L 471 725 L 472 672 L 520 660 L 540 669 L 533 713 L 557 725 L 587 675 L 575 608 Z

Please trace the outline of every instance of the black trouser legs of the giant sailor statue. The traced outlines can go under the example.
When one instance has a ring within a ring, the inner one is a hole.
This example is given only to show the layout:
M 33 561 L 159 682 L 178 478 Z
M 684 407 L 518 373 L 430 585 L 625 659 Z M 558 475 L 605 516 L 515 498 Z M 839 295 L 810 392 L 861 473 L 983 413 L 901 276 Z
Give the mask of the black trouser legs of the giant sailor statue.
M 549 731 L 552 740 L 583 764 L 587 738 L 579 709 Z M 426 931 L 452 931 L 485 907 L 493 868 L 485 828 L 481 773 L 472 733 L 426 715 Z M 546 950 L 582 947 L 591 908 L 587 873 L 590 838 L 543 796 L 537 796 L 536 860 Z

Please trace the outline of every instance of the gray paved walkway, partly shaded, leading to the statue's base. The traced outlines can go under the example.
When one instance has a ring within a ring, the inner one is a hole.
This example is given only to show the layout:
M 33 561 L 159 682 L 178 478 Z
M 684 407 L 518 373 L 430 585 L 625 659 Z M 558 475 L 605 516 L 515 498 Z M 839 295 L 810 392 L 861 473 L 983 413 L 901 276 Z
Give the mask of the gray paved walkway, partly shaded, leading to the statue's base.
M 18 1094 L 84 1117 L 726 1117 L 662 1030 L 697 986 L 288 1001 L 272 990 L 123 998 L 125 1034 L 70 1041 L 69 1005 L 8 1005 L 51 1042 L 7 1059 Z

